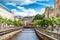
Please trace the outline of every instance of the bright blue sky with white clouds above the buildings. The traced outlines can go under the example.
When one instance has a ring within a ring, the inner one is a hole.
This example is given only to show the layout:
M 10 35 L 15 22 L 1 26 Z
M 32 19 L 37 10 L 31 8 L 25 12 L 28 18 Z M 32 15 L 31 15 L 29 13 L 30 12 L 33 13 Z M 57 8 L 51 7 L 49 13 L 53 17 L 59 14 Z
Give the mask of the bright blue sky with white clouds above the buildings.
M 54 0 L 0 0 L 16 16 L 43 14 L 47 6 L 54 7 Z

